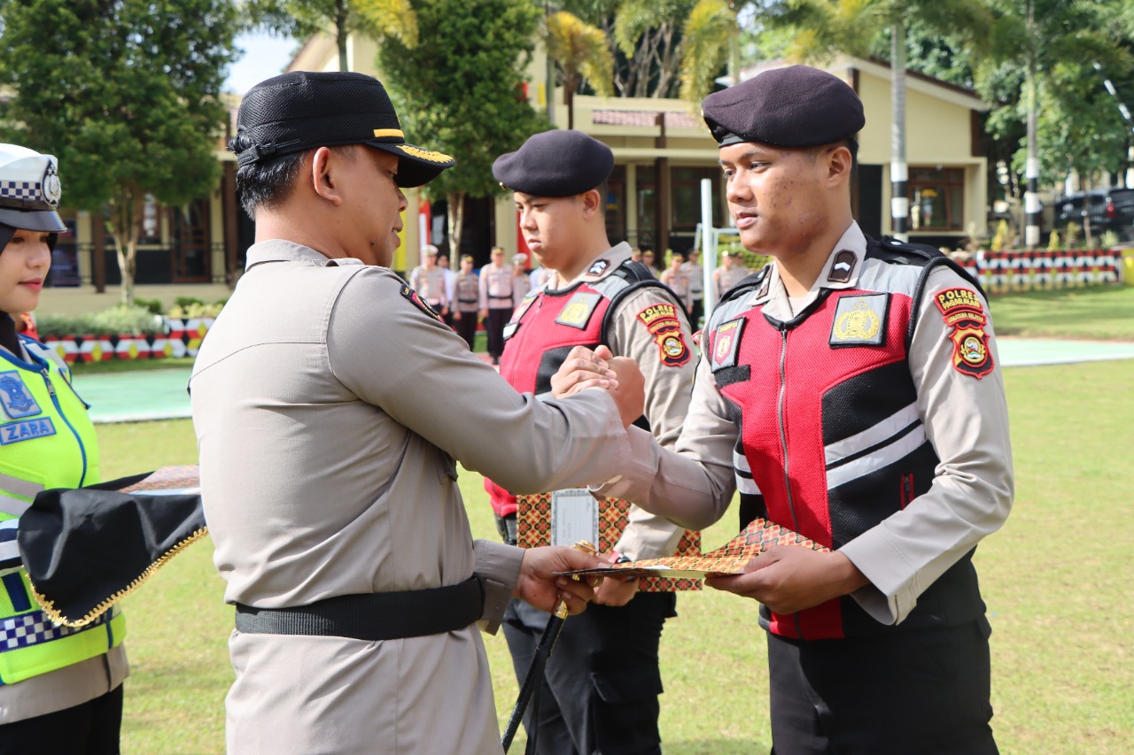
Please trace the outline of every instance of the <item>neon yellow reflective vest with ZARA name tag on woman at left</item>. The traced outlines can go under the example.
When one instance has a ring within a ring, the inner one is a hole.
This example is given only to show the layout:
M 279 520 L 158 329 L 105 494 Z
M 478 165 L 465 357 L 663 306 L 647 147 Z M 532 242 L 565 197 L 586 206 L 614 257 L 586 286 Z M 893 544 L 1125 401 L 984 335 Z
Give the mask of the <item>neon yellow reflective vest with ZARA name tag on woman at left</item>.
M 99 482 L 99 447 L 67 365 L 20 339 L 24 362 L 0 349 L 0 526 L 35 494 Z M 40 610 L 23 568 L 0 570 L 0 684 L 10 685 L 104 654 L 126 635 L 116 608 L 81 628 L 56 626 Z

